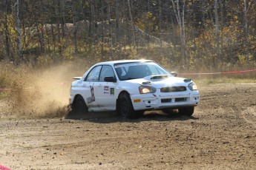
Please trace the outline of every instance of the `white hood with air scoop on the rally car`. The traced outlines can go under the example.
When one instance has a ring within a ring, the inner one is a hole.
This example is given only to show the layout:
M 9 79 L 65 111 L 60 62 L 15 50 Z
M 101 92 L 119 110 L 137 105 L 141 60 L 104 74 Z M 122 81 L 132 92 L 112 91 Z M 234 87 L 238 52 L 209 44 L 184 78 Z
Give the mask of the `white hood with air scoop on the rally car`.
M 145 78 L 128 80 L 127 82 L 140 84 L 142 86 L 162 88 L 164 86 L 188 86 L 192 81 L 191 79 L 169 77 L 168 75 L 151 75 Z

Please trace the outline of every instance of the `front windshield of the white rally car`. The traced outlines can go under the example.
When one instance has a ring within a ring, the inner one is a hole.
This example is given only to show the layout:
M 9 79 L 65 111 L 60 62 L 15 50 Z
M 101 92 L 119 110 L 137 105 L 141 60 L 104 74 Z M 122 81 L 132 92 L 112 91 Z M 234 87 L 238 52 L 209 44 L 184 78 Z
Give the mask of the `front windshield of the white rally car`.
M 170 75 L 163 67 L 154 62 L 115 64 L 114 68 L 120 81 L 145 78 L 149 75 Z

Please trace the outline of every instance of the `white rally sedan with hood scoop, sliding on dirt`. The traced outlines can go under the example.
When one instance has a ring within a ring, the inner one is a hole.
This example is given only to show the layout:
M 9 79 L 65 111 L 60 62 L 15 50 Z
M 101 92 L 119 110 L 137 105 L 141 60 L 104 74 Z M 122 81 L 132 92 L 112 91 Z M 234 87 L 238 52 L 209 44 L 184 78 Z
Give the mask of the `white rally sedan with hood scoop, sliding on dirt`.
M 145 110 L 160 109 L 191 116 L 200 101 L 191 79 L 177 78 L 154 61 L 108 61 L 93 65 L 73 81 L 69 103 L 74 112 L 116 111 L 137 118 Z

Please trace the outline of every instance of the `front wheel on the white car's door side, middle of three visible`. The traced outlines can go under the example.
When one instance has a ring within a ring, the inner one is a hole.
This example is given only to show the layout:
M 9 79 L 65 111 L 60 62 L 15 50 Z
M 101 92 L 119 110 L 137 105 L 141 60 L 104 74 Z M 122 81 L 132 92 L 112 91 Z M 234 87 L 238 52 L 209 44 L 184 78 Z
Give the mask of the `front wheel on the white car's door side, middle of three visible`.
M 122 93 L 119 96 L 119 112 L 125 118 L 136 118 L 134 107 L 132 106 L 128 93 Z

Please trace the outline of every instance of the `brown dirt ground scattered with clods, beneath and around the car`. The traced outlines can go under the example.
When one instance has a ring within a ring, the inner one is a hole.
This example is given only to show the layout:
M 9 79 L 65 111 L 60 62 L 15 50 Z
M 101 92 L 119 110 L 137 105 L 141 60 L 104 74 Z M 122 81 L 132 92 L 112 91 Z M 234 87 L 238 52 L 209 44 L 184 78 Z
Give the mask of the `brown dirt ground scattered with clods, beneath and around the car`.
M 0 118 L 10 169 L 256 169 L 256 84 L 199 86 L 193 117 Z M 0 115 L 8 107 L 0 103 Z

